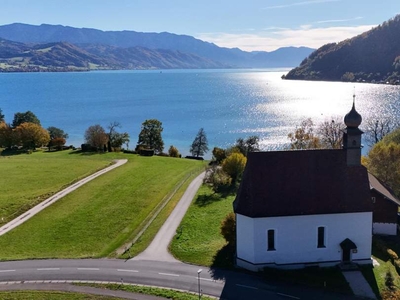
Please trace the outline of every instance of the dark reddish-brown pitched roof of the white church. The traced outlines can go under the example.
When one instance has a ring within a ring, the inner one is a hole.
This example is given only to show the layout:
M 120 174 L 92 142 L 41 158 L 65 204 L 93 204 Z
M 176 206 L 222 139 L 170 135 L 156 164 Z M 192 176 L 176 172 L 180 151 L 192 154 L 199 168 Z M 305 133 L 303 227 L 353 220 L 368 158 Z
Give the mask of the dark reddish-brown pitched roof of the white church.
M 368 173 L 347 166 L 345 150 L 252 152 L 234 210 L 253 218 L 369 212 Z

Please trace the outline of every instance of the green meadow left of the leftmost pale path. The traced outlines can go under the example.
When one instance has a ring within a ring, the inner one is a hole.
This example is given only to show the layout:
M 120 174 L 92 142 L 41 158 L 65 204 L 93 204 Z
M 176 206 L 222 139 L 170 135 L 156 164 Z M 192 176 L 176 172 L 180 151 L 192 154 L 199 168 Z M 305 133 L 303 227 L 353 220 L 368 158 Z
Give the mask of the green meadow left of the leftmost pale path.
M 0 225 L 112 161 L 110 155 L 70 153 L 38 151 L 0 156 Z

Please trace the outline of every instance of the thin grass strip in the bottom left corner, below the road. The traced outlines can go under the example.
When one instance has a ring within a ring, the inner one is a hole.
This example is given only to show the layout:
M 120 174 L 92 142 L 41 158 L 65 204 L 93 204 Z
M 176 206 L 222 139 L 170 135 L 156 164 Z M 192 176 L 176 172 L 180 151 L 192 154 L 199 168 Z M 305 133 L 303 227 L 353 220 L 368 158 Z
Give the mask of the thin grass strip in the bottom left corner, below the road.
M 122 298 L 54 291 L 0 292 L 2 300 L 119 300 Z

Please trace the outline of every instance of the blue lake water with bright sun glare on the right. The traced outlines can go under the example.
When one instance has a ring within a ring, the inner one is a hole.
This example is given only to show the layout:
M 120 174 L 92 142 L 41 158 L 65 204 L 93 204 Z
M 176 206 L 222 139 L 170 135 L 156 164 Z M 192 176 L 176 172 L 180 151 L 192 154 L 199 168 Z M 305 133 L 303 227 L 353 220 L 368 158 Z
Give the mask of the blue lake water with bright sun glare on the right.
M 85 130 L 113 121 L 136 145 L 146 119 L 163 123 L 165 149 L 187 155 L 203 127 L 214 146 L 258 135 L 265 150 L 279 149 L 305 118 L 315 123 L 344 117 L 357 95 L 364 119 L 399 117 L 400 87 L 282 80 L 287 70 L 154 70 L 80 73 L 0 73 L 0 108 L 11 122 L 16 112 L 33 111 L 42 126 L 69 134 L 80 146 Z M 207 155 L 210 157 L 210 153 Z

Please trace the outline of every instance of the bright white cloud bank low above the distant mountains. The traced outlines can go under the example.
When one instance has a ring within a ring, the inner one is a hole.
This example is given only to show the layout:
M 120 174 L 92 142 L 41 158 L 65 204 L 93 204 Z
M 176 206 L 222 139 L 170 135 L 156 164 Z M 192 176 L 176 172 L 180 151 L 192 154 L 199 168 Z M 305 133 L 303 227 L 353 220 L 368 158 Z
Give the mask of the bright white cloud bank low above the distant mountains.
M 276 29 L 257 33 L 200 33 L 196 38 L 220 47 L 240 48 L 245 51 L 273 51 L 281 47 L 306 46 L 319 48 L 327 43 L 340 42 L 370 30 L 376 25 L 354 27 Z

